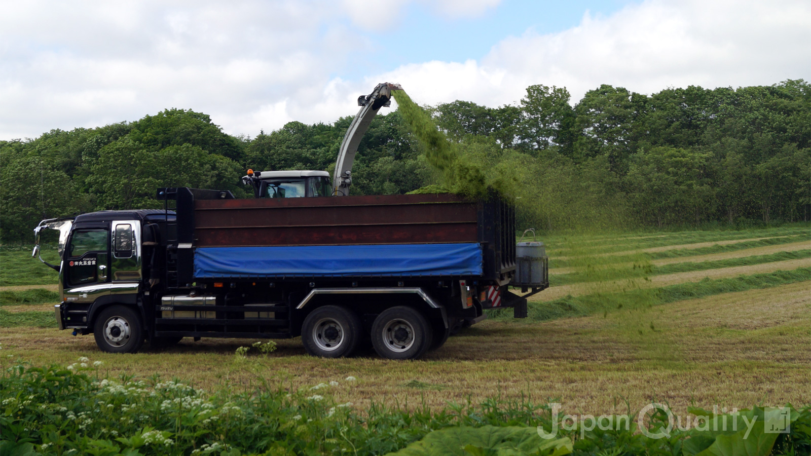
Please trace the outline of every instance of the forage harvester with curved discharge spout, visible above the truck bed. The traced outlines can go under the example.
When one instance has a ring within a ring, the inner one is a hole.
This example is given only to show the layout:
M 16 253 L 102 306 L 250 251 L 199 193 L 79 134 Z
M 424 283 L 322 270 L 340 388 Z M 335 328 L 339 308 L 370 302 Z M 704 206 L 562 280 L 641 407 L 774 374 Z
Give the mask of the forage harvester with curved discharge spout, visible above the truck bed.
M 307 196 L 347 196 L 352 185 L 352 164 L 363 135 L 369 130 L 371 120 L 380 108 L 392 104 L 392 91 L 402 90 L 400 84 L 377 84 L 369 95 L 358 97 L 360 110 L 346 130 L 335 173 L 330 182 L 326 171 L 256 171 L 248 170 L 242 183 L 254 187 L 256 198 L 294 198 Z

